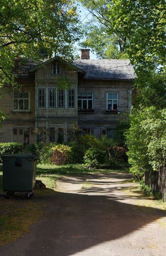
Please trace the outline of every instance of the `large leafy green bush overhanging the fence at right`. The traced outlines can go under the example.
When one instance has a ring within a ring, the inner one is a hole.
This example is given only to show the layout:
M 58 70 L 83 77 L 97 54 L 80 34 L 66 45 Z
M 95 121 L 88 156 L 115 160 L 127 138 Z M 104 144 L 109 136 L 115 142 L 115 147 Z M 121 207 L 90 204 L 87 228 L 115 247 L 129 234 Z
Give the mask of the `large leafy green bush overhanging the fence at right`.
M 146 171 L 159 171 L 166 159 L 166 109 L 133 110 L 126 133 L 131 171 L 143 177 Z

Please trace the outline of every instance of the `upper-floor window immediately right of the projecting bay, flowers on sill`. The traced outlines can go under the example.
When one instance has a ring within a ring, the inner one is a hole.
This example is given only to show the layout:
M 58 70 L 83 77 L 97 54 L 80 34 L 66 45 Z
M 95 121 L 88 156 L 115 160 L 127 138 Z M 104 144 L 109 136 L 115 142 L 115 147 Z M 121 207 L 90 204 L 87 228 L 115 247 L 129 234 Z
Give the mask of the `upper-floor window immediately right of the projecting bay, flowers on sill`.
M 78 93 L 78 108 L 93 108 L 93 93 Z

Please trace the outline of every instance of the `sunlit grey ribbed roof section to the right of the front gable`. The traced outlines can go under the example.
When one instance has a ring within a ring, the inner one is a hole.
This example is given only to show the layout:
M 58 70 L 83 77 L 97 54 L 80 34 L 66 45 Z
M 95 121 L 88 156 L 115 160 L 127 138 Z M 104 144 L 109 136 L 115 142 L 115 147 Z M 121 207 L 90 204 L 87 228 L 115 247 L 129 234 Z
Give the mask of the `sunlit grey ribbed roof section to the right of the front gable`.
M 128 59 L 76 59 L 73 65 L 85 71 L 87 79 L 133 80 L 136 75 Z

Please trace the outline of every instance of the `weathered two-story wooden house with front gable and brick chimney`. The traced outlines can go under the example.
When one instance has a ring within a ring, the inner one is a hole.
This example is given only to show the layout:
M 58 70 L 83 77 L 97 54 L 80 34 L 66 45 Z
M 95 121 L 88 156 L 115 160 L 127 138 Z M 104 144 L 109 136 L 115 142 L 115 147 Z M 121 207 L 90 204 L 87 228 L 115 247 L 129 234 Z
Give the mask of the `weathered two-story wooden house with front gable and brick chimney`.
M 54 57 L 42 65 L 31 59 L 15 59 L 13 72 L 21 90 L 5 87 L 0 108 L 9 117 L 1 122 L 0 142 L 23 146 L 37 141 L 36 128 L 52 131 L 56 142 L 62 128 L 78 123 L 87 132 L 112 136 L 120 112 L 129 110 L 135 73 L 129 60 L 91 60 L 82 49 L 73 64 Z M 57 78 L 70 79 L 70 89 L 57 90 Z M 63 135 L 67 139 L 67 135 Z

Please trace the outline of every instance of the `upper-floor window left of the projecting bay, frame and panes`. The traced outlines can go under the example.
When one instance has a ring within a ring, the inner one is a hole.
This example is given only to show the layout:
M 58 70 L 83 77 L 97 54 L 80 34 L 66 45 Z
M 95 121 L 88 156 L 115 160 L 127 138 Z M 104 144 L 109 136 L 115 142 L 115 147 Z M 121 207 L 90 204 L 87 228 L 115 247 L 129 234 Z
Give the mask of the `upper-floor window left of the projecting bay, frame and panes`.
M 29 93 L 14 92 L 13 93 L 13 110 L 29 111 Z

